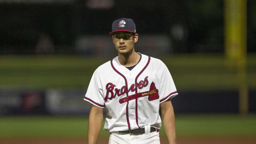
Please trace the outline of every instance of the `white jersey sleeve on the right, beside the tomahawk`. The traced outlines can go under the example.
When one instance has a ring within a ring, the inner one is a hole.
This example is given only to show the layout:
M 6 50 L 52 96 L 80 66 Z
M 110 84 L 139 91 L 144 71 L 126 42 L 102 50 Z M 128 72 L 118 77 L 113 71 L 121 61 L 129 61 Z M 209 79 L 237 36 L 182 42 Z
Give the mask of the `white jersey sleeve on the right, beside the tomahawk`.
M 171 73 L 162 61 L 161 63 L 159 88 L 160 103 L 178 95 Z

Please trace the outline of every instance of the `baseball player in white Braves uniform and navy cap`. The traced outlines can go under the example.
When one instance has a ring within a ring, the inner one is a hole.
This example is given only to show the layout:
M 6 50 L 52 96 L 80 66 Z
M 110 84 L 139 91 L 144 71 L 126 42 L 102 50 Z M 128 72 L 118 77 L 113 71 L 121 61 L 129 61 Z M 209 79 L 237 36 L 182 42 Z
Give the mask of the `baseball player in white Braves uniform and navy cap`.
M 94 71 L 85 94 L 84 100 L 92 104 L 88 144 L 97 142 L 104 108 L 109 144 L 160 144 L 159 108 L 169 143 L 176 144 L 171 98 L 178 93 L 168 68 L 135 52 L 139 35 L 132 19 L 115 20 L 109 34 L 118 56 Z

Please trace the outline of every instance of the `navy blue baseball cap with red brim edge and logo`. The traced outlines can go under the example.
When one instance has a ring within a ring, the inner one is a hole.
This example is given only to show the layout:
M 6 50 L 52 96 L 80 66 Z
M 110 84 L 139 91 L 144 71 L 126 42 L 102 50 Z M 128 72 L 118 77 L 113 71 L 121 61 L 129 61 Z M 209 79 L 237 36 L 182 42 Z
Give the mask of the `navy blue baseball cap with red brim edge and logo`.
M 109 34 L 112 34 L 113 32 L 132 32 L 136 34 L 136 26 L 132 19 L 117 19 L 113 21 L 112 23 L 112 32 Z

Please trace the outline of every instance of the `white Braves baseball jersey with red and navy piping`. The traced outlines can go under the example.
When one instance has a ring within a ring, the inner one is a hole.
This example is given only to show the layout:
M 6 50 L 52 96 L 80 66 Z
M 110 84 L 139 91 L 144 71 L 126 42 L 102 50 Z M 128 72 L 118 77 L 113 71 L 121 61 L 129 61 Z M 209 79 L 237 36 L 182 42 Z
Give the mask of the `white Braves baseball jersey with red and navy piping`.
M 109 132 L 161 127 L 160 104 L 178 95 L 173 78 L 160 60 L 141 54 L 132 69 L 115 57 L 99 66 L 88 86 L 84 100 L 106 108 L 104 129 Z

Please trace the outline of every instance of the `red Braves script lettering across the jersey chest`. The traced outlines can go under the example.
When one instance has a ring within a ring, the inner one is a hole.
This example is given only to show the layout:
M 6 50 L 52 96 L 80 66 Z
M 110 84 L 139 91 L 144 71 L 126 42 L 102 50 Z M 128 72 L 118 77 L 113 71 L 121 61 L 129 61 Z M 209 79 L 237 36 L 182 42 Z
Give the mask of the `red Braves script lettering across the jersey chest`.
M 107 93 L 104 98 L 105 102 L 108 99 L 112 100 L 113 98 L 116 97 L 116 95 L 121 96 L 121 95 L 124 95 L 125 93 L 128 93 L 129 91 L 133 92 L 138 88 L 142 89 L 143 87 L 147 87 L 147 85 L 148 85 L 147 77 L 145 77 L 144 80 L 139 81 L 139 83 L 132 84 L 129 89 L 127 88 L 126 85 L 124 85 L 121 89 L 117 89 L 117 88 L 115 88 L 115 85 L 113 83 L 107 83 L 107 85 L 106 85 Z

